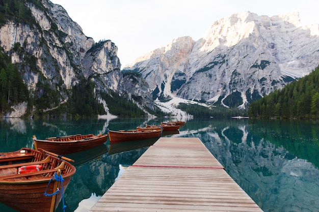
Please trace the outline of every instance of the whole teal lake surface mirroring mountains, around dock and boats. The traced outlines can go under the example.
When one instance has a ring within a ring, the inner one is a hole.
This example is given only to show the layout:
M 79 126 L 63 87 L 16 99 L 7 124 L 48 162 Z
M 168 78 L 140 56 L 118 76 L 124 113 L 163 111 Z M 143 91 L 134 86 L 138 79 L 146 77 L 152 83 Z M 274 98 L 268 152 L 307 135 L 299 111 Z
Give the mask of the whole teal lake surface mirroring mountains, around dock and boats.
M 0 152 L 32 146 L 37 138 L 71 134 L 101 134 L 168 119 L 140 118 L 8 119 L 2 121 Z M 264 211 L 319 211 L 319 126 L 317 123 L 281 120 L 194 118 L 178 134 L 198 137 L 225 167 L 228 174 Z M 154 141 L 106 142 L 75 158 L 76 173 L 65 191 L 66 211 L 88 211 Z M 90 202 L 91 201 L 91 202 Z M 90 202 L 90 203 L 89 203 Z M 14 211 L 0 204 L 1 211 Z M 62 211 L 60 203 L 57 211 Z

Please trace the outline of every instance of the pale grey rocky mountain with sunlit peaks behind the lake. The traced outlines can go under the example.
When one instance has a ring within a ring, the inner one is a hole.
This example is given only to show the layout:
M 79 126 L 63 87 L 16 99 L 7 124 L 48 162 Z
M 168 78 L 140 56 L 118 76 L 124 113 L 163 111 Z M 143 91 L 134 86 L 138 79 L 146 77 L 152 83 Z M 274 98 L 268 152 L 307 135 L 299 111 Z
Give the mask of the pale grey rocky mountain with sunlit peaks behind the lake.
M 124 70 L 135 70 L 159 101 L 174 97 L 247 107 L 319 64 L 318 25 L 298 13 L 234 14 L 214 22 L 198 41 L 174 39 Z

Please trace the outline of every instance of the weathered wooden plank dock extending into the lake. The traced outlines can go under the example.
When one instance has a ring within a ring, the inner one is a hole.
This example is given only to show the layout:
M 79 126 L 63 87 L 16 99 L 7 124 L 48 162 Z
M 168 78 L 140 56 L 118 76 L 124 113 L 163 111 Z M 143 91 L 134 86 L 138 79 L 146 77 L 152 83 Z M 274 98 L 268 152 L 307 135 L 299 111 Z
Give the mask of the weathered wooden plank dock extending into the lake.
M 159 138 L 90 209 L 262 211 L 198 138 Z

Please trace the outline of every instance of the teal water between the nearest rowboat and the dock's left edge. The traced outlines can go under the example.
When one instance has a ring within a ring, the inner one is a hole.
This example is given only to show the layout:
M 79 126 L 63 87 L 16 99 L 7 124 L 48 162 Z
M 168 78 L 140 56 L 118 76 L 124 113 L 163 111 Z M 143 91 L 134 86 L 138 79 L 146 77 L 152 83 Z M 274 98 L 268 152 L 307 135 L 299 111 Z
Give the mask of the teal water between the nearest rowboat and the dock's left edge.
M 120 170 L 123 169 L 121 167 L 132 165 L 146 149 L 147 147 L 142 147 L 112 155 L 105 153 L 95 160 L 77 166 L 76 173 L 64 195 L 69 211 L 75 209 L 81 211 L 83 208 L 79 203 L 82 200 L 93 201 L 92 199 L 96 200 L 98 199 L 96 197 L 101 197 L 114 184 Z M 61 204 L 59 208 L 62 209 Z M 58 209 L 57 211 L 62 211 Z

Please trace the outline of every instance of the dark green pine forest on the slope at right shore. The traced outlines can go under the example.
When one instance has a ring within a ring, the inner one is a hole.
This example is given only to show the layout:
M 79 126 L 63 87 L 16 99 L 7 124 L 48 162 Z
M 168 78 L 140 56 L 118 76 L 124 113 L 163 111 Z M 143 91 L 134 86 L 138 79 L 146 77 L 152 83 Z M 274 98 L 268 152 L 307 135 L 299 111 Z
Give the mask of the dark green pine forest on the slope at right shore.
M 319 67 L 309 75 L 253 102 L 250 117 L 319 118 Z

